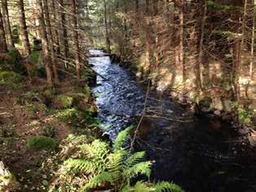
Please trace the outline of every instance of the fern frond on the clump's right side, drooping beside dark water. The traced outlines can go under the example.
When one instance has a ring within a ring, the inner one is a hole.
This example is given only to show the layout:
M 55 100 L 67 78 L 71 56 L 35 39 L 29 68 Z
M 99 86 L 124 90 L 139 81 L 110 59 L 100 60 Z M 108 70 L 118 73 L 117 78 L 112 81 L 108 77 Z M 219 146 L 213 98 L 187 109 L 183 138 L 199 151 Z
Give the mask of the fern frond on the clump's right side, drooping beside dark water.
M 132 177 L 138 176 L 139 174 L 143 174 L 149 178 L 151 174 L 151 165 L 152 163 L 150 161 L 135 164 L 132 167 L 124 170 L 124 177 L 130 179 Z

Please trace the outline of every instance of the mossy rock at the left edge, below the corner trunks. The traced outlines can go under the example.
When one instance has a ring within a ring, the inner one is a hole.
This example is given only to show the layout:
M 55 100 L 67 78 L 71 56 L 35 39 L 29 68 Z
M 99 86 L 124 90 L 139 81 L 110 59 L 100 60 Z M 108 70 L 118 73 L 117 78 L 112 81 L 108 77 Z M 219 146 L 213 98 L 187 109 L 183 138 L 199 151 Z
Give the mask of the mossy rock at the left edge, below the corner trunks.
M 7 85 L 12 89 L 22 86 L 22 76 L 15 72 L 0 72 L 0 85 Z

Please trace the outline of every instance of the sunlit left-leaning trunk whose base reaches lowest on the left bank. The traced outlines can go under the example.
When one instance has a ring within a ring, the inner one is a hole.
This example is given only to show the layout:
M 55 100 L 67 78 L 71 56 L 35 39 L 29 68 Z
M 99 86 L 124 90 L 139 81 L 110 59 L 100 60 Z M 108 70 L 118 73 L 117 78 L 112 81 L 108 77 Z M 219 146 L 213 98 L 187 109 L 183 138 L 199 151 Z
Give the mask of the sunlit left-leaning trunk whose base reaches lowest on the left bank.
M 43 62 L 46 66 L 46 76 L 47 76 L 47 84 L 49 86 L 53 85 L 52 81 L 52 73 L 51 73 L 51 59 L 50 59 L 50 51 L 49 45 L 47 40 L 47 33 L 46 33 L 46 26 L 43 16 L 43 9 L 42 9 L 42 0 L 37 0 L 37 7 L 38 7 L 38 20 L 40 24 L 40 36 L 42 40 L 42 54 L 43 54 Z

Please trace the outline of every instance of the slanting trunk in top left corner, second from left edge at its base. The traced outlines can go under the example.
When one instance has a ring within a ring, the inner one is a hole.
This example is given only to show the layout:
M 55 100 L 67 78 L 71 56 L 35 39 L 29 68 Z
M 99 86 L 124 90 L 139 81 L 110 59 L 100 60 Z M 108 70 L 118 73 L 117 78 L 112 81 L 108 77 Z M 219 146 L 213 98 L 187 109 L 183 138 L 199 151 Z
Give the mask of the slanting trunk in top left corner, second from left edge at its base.
M 4 23 L 6 24 L 6 35 L 7 35 L 8 46 L 10 46 L 11 48 L 14 48 L 15 47 L 14 41 L 11 37 L 11 24 L 10 24 L 7 0 L 2 0 L 2 15 L 3 15 Z

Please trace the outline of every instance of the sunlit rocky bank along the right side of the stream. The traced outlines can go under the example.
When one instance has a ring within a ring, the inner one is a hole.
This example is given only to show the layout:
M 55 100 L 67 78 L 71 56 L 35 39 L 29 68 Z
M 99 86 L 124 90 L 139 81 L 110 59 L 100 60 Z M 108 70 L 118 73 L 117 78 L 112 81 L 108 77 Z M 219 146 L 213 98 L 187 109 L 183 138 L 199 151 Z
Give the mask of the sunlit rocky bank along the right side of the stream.
M 138 81 L 148 82 L 149 68 L 140 68 L 131 59 L 121 58 L 121 56 L 112 55 L 113 63 L 128 69 L 136 76 Z M 195 87 L 192 86 L 192 82 L 186 81 L 183 84 L 169 85 L 169 81 L 168 76 L 158 76 L 157 78 L 152 76 L 150 78 L 150 89 L 160 94 L 169 95 L 175 103 L 188 106 L 189 110 L 196 116 L 206 116 L 217 120 L 219 124 L 231 123 L 234 129 L 254 133 L 256 129 L 256 94 L 254 92 L 256 84 L 254 81 L 249 81 L 246 78 L 241 79 L 241 100 L 239 103 L 236 102 L 232 89 L 230 89 L 229 94 L 219 87 L 198 93 L 195 91 Z M 162 89 L 161 82 L 166 82 L 168 85 L 165 85 L 165 88 Z M 249 136 L 251 136 L 250 133 Z

